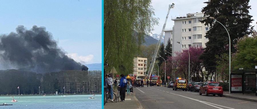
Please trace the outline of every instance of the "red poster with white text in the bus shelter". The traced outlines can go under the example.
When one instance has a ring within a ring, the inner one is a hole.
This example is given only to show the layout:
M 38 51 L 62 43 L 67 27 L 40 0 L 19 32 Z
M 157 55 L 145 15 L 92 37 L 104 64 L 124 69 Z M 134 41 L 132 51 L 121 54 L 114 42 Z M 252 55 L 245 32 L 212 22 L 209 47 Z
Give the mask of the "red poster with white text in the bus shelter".
M 242 75 L 231 75 L 231 91 L 242 91 Z

